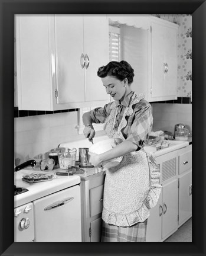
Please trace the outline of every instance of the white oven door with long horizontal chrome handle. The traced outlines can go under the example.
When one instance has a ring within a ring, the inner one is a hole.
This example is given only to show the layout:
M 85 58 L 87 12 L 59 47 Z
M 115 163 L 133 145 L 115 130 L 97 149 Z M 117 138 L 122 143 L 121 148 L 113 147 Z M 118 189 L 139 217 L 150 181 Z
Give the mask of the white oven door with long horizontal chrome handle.
M 34 242 L 81 242 L 80 185 L 34 200 Z

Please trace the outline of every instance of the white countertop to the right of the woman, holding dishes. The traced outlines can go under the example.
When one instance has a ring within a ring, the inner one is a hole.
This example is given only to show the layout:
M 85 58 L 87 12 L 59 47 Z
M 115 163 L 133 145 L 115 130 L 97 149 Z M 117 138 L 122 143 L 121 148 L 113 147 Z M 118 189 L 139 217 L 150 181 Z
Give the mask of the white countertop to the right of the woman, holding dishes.
M 144 149 L 146 152 L 155 152 L 155 155 L 159 156 L 159 155 L 163 155 L 164 153 L 168 153 L 176 149 L 184 148 L 185 146 L 189 145 L 189 142 L 184 140 L 168 140 L 168 142 L 169 142 L 168 148 L 160 149 L 158 151 L 156 150 L 156 145 L 146 145 Z

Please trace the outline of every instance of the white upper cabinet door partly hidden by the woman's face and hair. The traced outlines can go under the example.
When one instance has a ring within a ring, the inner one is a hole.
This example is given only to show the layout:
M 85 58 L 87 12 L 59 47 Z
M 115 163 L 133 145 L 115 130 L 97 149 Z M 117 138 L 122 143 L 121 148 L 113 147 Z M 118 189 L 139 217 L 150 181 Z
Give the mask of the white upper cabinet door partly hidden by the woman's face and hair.
M 109 62 L 109 23 L 106 15 L 83 15 L 84 56 L 86 57 L 85 100 L 108 100 L 109 95 L 97 76 L 100 66 Z

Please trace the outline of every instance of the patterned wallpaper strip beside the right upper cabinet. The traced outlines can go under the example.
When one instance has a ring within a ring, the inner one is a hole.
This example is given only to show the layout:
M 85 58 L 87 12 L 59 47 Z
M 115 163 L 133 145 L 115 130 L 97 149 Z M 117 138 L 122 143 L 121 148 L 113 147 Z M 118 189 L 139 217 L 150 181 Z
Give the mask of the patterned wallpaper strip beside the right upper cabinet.
M 179 25 L 178 97 L 192 95 L 192 16 L 189 14 L 153 14 Z

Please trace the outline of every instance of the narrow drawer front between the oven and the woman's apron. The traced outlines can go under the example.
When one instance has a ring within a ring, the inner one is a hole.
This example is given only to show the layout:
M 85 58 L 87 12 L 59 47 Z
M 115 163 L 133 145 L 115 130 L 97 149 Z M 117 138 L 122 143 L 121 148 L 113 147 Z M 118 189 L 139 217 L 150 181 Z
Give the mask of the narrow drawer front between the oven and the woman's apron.
M 90 193 L 90 217 L 102 213 L 104 185 L 91 188 Z

